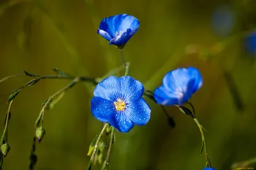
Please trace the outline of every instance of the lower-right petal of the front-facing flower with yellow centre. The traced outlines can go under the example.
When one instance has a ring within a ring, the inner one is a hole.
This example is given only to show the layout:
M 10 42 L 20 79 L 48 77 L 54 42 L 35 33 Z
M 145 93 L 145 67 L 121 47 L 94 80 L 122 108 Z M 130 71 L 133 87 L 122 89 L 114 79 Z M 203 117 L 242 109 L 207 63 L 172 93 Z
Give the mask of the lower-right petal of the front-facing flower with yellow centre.
M 125 113 L 136 125 L 145 125 L 150 119 L 151 109 L 143 98 L 127 105 Z

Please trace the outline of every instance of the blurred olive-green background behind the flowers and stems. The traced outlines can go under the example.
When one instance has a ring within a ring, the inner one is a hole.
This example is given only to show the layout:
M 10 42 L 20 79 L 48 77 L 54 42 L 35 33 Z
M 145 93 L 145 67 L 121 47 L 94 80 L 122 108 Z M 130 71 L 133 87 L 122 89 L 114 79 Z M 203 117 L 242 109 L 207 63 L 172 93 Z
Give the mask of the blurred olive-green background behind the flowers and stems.
M 202 73 L 204 86 L 192 101 L 207 130 L 212 166 L 227 170 L 234 162 L 256 157 L 256 63 L 249 37 L 256 26 L 252 0 L 1 0 L 0 77 L 23 70 L 51 75 L 56 67 L 72 75 L 102 77 L 122 60 L 118 49 L 97 35 L 97 28 L 101 19 L 119 13 L 140 20 L 138 33 L 123 52 L 131 62 L 131 76 L 146 89 L 153 91 L 175 68 L 195 66 Z M 0 94 L 29 80 L 3 82 Z M 41 104 L 68 82 L 40 81 L 15 98 L 8 130 L 11 150 L 3 169 L 28 169 Z M 81 82 L 46 112 L 46 134 L 36 146 L 35 169 L 86 169 L 88 146 L 102 128 L 90 112 L 92 92 L 92 85 Z M 0 98 L 1 133 L 7 98 Z M 167 107 L 177 124 L 171 128 L 159 105 L 146 100 L 152 107 L 149 123 L 128 134 L 116 132 L 109 169 L 202 169 L 205 160 L 195 122 Z

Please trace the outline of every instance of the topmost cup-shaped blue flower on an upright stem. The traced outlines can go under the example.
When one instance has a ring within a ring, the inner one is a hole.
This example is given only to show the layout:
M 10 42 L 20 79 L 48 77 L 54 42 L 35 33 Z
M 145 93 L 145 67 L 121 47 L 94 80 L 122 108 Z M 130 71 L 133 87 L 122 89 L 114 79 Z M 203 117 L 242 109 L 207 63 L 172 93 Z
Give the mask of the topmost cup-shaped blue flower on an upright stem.
M 102 19 L 97 33 L 109 44 L 124 47 L 125 43 L 138 31 L 140 21 L 127 14 L 119 14 Z

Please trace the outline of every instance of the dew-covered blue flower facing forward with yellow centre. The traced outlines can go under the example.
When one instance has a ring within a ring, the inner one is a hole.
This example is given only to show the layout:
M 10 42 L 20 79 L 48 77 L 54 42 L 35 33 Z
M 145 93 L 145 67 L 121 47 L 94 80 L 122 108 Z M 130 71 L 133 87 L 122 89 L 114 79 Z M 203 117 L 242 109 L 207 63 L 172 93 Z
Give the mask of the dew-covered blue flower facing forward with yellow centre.
M 151 109 L 142 98 L 143 93 L 143 84 L 132 77 L 108 77 L 94 89 L 92 114 L 119 132 L 129 132 L 134 124 L 145 125 L 150 119 Z

